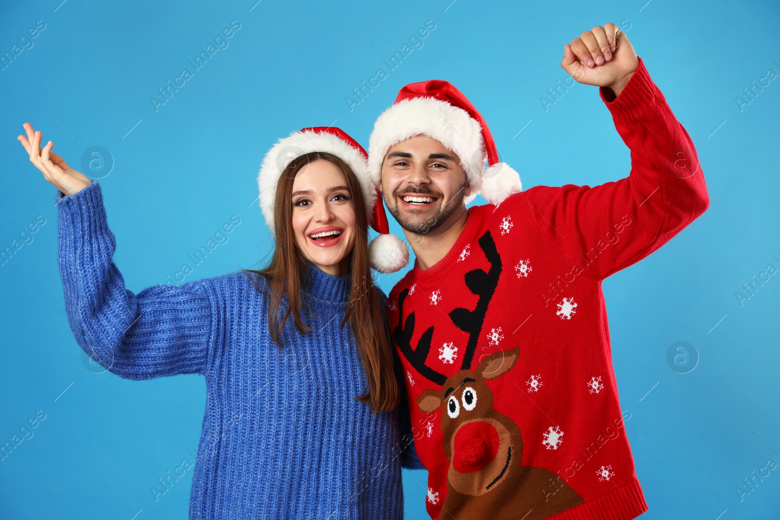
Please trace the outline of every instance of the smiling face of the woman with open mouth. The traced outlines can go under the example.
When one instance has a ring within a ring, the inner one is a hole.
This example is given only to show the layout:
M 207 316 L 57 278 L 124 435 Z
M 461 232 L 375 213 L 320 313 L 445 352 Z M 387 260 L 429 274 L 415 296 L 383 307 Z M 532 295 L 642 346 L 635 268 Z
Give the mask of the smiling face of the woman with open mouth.
M 355 246 L 355 205 L 346 178 L 331 161 L 303 165 L 293 181 L 293 235 L 304 258 L 343 276 Z

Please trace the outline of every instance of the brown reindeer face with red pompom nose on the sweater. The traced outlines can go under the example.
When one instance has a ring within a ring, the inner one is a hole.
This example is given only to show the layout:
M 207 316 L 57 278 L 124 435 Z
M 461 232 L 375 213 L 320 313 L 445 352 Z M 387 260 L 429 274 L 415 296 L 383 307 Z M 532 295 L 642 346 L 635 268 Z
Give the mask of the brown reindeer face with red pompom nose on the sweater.
M 485 380 L 511 369 L 518 357 L 519 348 L 492 354 L 477 370 L 460 370 L 440 391 L 424 391 L 417 399 L 423 412 L 443 407 L 441 430 L 450 462 L 448 480 L 460 493 L 478 496 L 495 489 L 509 476 L 513 459 L 521 454 L 519 428 L 493 409 L 493 393 L 485 384 Z

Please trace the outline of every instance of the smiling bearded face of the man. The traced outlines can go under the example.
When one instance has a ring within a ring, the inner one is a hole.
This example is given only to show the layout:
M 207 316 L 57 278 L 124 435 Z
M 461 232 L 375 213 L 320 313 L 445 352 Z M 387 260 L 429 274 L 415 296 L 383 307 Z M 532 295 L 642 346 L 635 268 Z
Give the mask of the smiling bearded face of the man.
M 390 147 L 382 162 L 381 188 L 393 218 L 417 235 L 448 229 L 466 210 L 463 197 L 471 191 L 456 154 L 427 136 Z

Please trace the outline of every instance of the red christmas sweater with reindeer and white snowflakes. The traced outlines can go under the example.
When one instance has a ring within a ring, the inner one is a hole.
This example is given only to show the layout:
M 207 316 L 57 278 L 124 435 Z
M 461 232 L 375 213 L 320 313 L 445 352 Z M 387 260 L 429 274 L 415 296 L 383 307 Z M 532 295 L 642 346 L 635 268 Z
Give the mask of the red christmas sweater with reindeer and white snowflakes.
M 431 518 L 628 520 L 647 511 L 601 281 L 709 206 L 690 136 L 640 58 L 615 97 L 631 172 L 471 207 L 455 246 L 388 298 Z

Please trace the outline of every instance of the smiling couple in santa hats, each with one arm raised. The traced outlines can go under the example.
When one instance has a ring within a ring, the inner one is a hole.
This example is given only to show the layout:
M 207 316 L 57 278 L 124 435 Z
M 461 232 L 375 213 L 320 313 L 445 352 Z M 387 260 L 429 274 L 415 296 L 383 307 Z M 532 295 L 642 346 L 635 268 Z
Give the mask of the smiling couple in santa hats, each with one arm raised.
M 622 31 L 585 31 L 561 65 L 600 87 L 629 177 L 522 191 L 459 90 L 413 83 L 369 154 L 321 127 L 271 148 L 258 177 L 268 267 L 137 295 L 112 263 L 100 186 L 25 125 L 30 161 L 60 190 L 78 343 L 121 377 L 206 378 L 190 518 L 401 518 L 402 466 L 428 470 L 431 518 L 647 511 L 601 281 L 709 199 L 690 137 Z M 598 146 L 589 132 L 585 149 Z M 489 203 L 466 208 L 477 193 Z M 408 250 L 383 200 L 417 257 L 387 299 L 370 268 L 398 271 Z

